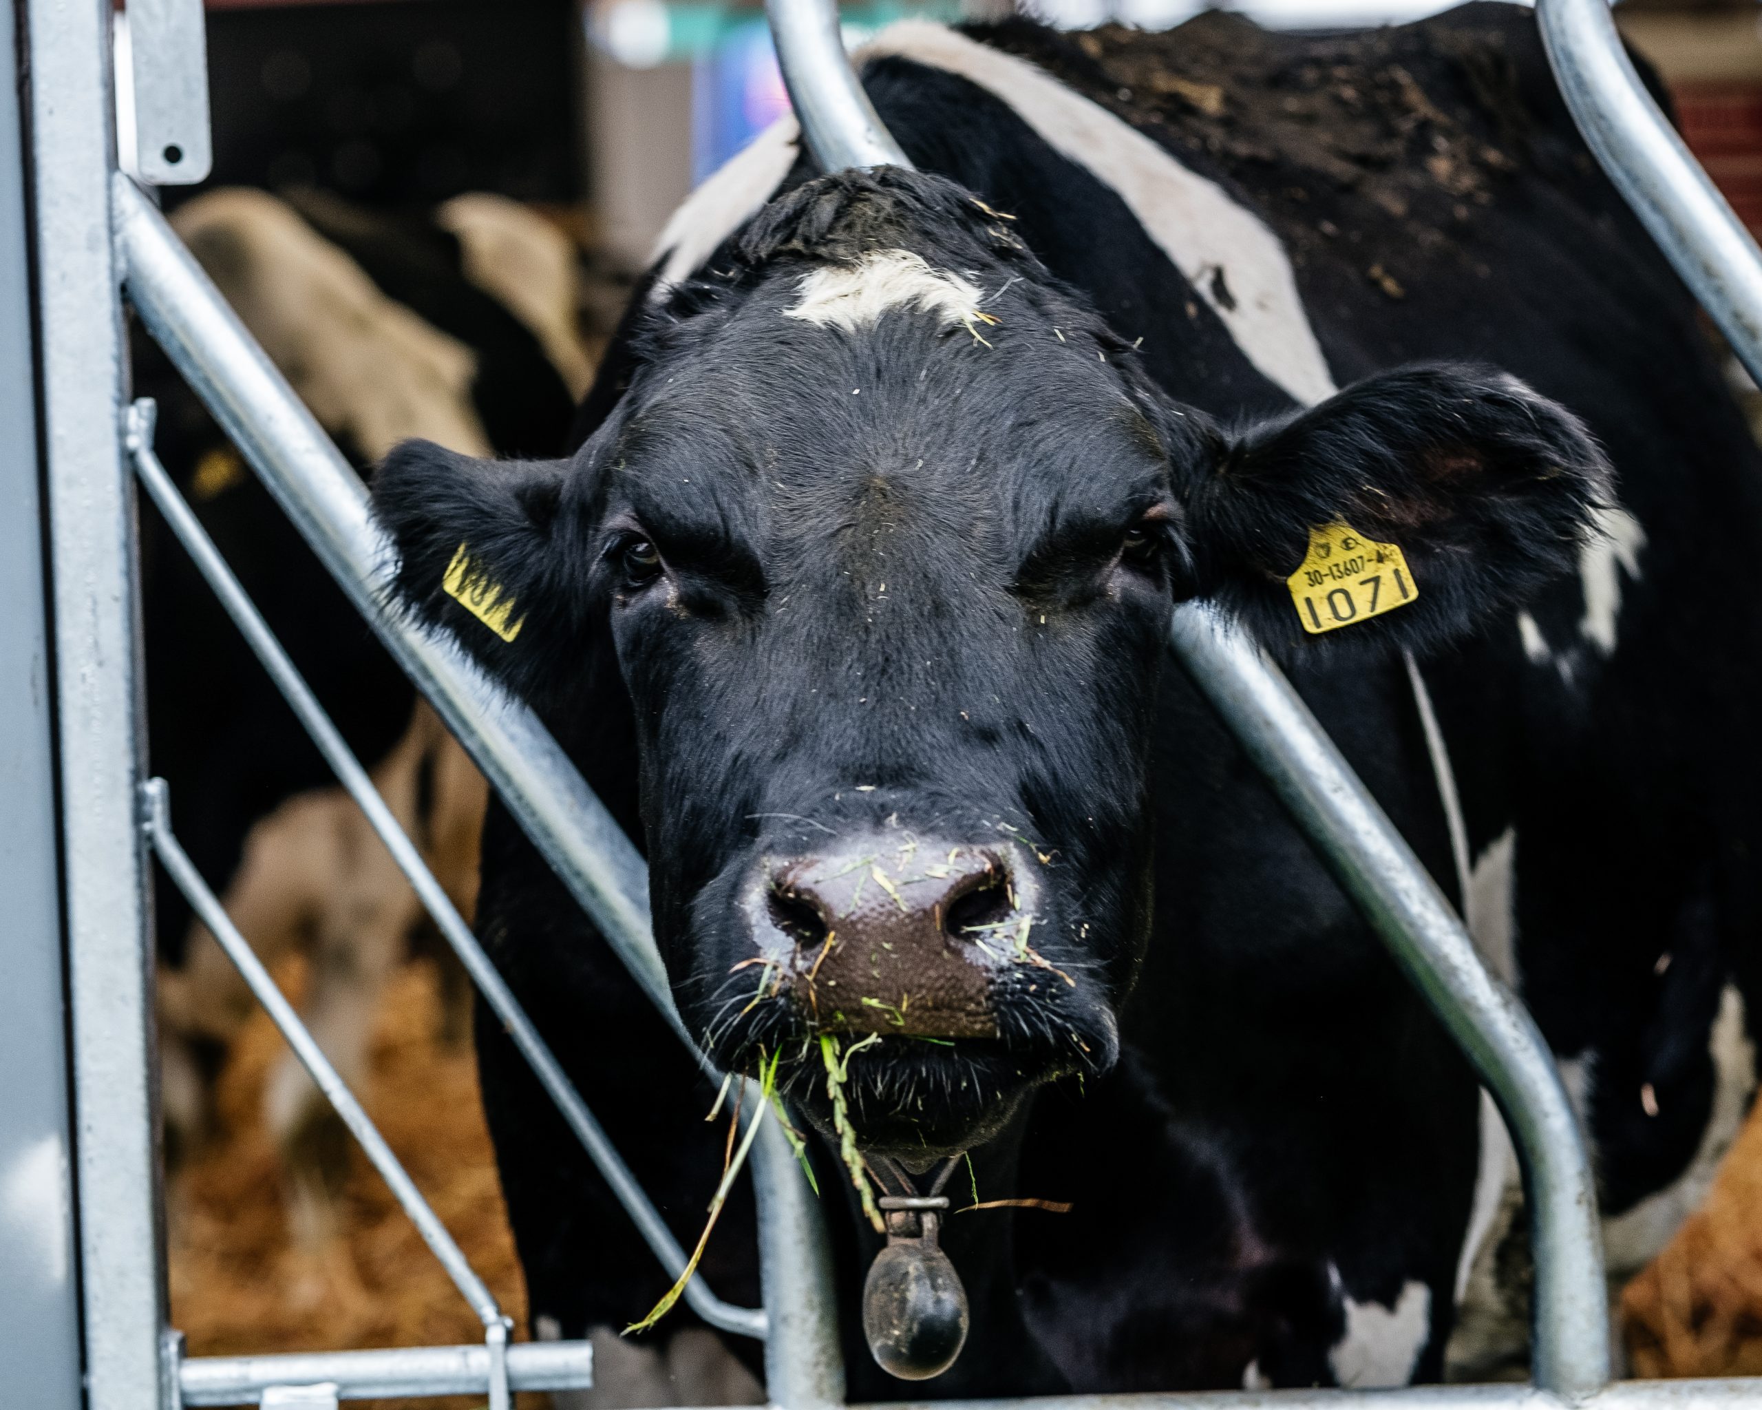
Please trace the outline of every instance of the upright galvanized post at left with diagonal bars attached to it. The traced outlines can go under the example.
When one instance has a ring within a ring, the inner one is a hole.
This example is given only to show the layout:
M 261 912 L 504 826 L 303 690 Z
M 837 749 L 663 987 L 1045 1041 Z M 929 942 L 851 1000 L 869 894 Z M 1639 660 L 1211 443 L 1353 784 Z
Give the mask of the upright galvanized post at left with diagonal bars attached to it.
M 26 0 L 25 16 L 86 1394 L 93 1410 L 150 1410 L 166 1294 L 152 929 L 136 827 L 134 495 L 111 243 L 111 0 Z

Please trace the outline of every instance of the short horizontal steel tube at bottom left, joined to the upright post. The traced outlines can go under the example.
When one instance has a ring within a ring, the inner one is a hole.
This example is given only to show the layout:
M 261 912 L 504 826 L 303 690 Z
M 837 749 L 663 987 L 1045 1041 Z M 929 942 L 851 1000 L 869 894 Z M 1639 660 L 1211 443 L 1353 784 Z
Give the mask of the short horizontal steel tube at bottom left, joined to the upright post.
M 490 1387 L 485 1347 L 398 1347 L 384 1352 L 204 1355 L 180 1368 L 183 1405 L 255 1405 L 271 1385 L 333 1382 L 342 1399 L 481 1396 Z M 507 1348 L 515 1391 L 590 1391 L 587 1341 L 525 1341 Z

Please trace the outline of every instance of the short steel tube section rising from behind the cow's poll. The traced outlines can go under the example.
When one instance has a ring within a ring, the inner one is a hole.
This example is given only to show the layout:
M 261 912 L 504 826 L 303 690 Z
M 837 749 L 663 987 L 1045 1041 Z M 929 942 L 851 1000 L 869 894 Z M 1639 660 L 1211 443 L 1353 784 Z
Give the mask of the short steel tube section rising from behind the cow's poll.
M 839 7 L 830 0 L 765 0 L 789 106 L 821 171 L 911 160 L 876 115 L 844 56 Z

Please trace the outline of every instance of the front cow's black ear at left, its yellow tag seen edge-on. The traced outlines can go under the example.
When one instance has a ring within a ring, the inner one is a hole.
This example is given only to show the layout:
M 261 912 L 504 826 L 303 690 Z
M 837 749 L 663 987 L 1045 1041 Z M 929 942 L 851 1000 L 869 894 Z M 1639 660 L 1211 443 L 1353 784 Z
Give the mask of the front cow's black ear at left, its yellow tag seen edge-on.
M 564 511 L 569 469 L 405 441 L 374 474 L 374 518 L 398 550 L 398 605 L 451 631 L 523 696 L 583 629 L 585 590 L 571 568 L 585 559 Z

